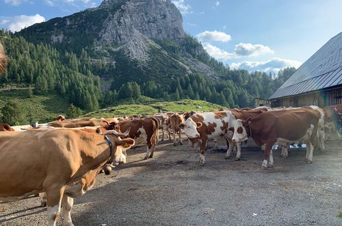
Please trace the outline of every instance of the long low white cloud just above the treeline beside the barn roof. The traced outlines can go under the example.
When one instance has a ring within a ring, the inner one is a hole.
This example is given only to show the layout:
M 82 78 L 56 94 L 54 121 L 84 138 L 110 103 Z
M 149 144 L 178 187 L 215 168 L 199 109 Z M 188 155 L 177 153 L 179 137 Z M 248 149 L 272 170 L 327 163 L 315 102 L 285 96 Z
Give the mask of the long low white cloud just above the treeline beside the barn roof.
M 295 61 L 295 60 L 287 60 L 282 58 L 272 58 L 271 60 L 267 60 L 264 62 L 259 61 L 244 61 L 239 63 L 231 64 L 231 68 L 235 69 L 245 69 L 247 71 L 264 71 L 269 73 L 272 71 L 273 73 L 278 73 L 280 69 L 286 68 L 288 66 L 294 66 L 298 68 L 302 62 Z

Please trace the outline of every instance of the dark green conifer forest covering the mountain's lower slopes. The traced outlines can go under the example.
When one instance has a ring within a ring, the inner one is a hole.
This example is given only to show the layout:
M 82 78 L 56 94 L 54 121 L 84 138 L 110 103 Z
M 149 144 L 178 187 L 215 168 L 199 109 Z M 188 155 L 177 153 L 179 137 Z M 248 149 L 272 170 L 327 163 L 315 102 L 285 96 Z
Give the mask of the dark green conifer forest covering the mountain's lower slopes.
M 53 45 L 33 44 L 23 37 L 3 31 L 0 37 L 9 60 L 8 70 L 0 78 L 0 86 L 31 85 L 37 95 L 54 91 L 86 111 L 96 110 L 99 106 L 115 105 L 118 99 L 131 98 L 134 103 L 134 99 L 140 95 L 165 100 L 201 99 L 227 108 L 252 106 L 254 97 L 269 97 L 295 71 L 295 68 L 285 68 L 272 79 L 261 72 L 250 74 L 245 70 L 230 70 L 213 58 L 201 54 L 196 55 L 196 58 L 215 68 L 220 75 L 218 79 L 211 79 L 202 73 L 184 73 L 172 77 L 169 83 L 163 82 L 162 78 L 159 82 L 155 79 L 140 81 L 137 71 L 129 79 L 122 79 L 120 75 L 116 76 L 116 72 L 132 70 L 127 62 L 116 67 L 106 60 L 91 58 L 85 49 L 77 55 Z M 163 40 L 159 43 L 174 55 L 183 51 L 172 42 Z M 196 43 L 184 45 L 189 54 L 192 49 L 196 49 Z M 196 54 L 196 51 L 192 54 Z M 110 77 L 111 88 L 103 92 L 98 75 L 107 76 L 109 72 L 114 73 Z M 150 77 L 154 76 L 150 74 Z

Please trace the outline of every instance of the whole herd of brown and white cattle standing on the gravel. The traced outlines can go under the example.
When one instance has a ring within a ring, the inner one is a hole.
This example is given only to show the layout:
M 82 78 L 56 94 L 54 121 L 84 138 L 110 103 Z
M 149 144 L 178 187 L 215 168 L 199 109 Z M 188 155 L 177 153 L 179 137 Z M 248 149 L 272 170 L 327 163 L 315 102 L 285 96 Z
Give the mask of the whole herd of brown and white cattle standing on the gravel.
M 342 105 L 321 109 L 240 108 L 213 112 L 159 112 L 150 116 L 127 118 L 79 118 L 58 116 L 55 123 L 39 125 L 25 131 L 14 131 L 0 123 L 0 200 L 14 201 L 44 192 L 49 225 L 55 225 L 60 208 L 63 224 L 73 225 L 70 210 L 73 198 L 94 185 L 96 175 L 109 173 L 112 164 L 125 163 L 127 149 L 140 142 L 146 144 L 145 159 L 153 158 L 159 140 L 166 136 L 174 145 L 183 145 L 185 134 L 200 153 L 205 164 L 209 140 L 226 140 L 225 158 L 237 147 L 241 158 L 241 142 L 252 138 L 264 151 L 262 168 L 274 164 L 272 147 L 282 148 L 287 157 L 288 145 L 306 144 L 306 161 L 313 162 L 313 150 L 325 149 L 328 131 L 336 131 L 341 123 Z M 177 139 L 178 136 L 178 139 Z M 23 181 L 25 181 L 23 183 Z

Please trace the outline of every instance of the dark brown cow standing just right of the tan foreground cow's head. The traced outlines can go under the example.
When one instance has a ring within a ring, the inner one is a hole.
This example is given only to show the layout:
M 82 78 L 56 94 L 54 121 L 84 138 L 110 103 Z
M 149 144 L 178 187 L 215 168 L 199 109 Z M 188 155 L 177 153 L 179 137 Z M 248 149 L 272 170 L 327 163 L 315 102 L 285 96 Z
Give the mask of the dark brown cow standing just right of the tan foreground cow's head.
M 137 144 L 145 142 L 147 151 L 144 159 L 153 158 L 153 152 L 155 151 L 159 136 L 159 123 L 156 118 L 148 117 L 131 121 L 120 121 L 118 125 L 120 131 L 127 131 L 131 127 L 128 137 L 134 139 Z

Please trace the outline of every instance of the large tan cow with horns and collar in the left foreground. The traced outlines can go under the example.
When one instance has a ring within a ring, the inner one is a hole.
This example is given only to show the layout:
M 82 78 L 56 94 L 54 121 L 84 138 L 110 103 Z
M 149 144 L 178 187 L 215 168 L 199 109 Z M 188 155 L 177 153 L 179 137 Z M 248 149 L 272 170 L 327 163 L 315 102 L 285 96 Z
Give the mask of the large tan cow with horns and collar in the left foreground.
M 107 162 L 122 161 L 122 151 L 134 145 L 131 138 L 119 138 L 126 135 L 107 131 L 104 137 L 76 129 L 1 133 L 0 200 L 46 192 L 49 225 L 55 225 L 61 205 L 63 225 L 73 225 L 73 198 L 94 186 L 96 175 Z

